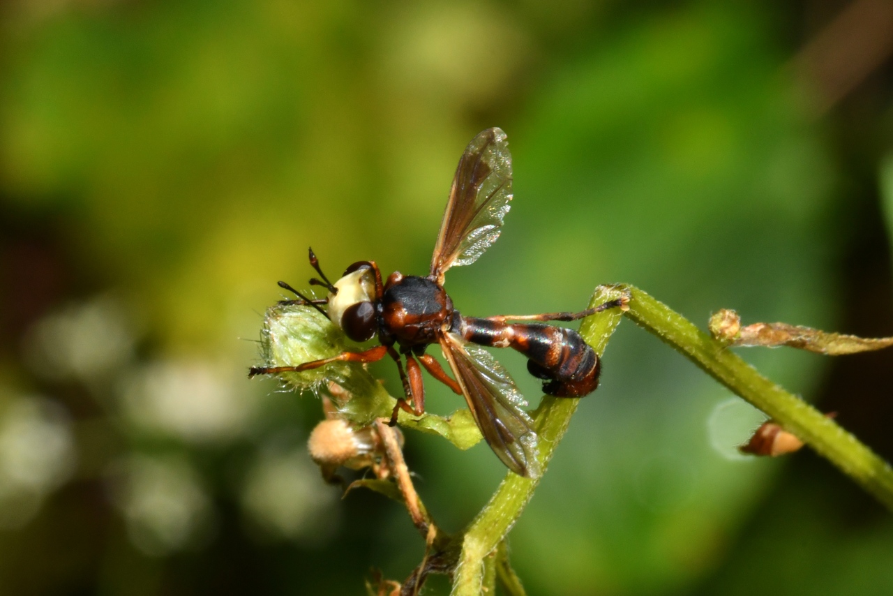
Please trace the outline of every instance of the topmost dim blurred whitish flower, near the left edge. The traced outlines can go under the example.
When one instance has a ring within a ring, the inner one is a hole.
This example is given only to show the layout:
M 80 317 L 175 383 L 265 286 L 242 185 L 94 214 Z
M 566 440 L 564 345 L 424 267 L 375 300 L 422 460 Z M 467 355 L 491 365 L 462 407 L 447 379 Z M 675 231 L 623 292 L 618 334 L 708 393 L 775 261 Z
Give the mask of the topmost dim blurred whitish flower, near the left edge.
M 105 295 L 40 319 L 24 349 L 36 373 L 91 383 L 126 364 L 133 342 L 124 306 Z

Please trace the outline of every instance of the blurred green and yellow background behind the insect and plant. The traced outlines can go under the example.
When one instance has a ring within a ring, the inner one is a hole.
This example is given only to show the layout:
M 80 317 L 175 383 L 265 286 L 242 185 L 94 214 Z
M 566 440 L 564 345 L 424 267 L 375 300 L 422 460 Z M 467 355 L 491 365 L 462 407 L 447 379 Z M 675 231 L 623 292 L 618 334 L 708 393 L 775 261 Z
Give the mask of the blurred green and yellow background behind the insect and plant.
M 515 199 L 447 276 L 463 313 L 628 281 L 701 325 L 732 307 L 893 335 L 885 2 L 13 0 L 0 19 L 4 593 L 408 575 L 405 511 L 339 499 L 306 455 L 318 401 L 246 369 L 308 245 L 330 277 L 427 273 L 489 126 Z M 497 356 L 536 405 L 523 358 Z M 893 354 L 743 356 L 893 457 Z M 427 386 L 431 411 L 461 405 Z M 740 457 L 761 420 L 623 323 L 511 534 L 530 594 L 893 593 L 889 514 L 809 452 Z M 448 531 L 505 474 L 484 445 L 406 442 Z

